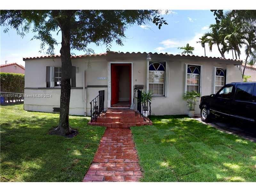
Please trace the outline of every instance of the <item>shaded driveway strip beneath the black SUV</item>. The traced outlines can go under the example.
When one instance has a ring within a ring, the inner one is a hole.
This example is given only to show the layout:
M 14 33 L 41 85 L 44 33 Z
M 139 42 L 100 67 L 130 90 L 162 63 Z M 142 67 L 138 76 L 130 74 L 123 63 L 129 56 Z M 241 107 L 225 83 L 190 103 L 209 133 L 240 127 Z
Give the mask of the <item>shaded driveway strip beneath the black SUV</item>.
M 240 122 L 235 119 L 228 118 L 215 118 L 211 122 L 205 123 L 200 117 L 194 118 L 204 124 L 209 124 L 219 129 L 220 131 L 227 132 L 229 134 L 235 134 L 243 137 L 244 139 L 256 142 L 256 127 L 255 125 Z

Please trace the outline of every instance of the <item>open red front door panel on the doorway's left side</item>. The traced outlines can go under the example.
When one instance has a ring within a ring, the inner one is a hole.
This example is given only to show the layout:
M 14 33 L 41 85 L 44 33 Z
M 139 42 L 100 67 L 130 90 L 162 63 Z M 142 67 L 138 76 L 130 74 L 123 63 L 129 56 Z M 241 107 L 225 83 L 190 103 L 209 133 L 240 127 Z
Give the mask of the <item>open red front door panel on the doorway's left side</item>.
M 111 65 L 111 105 L 118 103 L 119 99 L 119 74 L 117 65 Z

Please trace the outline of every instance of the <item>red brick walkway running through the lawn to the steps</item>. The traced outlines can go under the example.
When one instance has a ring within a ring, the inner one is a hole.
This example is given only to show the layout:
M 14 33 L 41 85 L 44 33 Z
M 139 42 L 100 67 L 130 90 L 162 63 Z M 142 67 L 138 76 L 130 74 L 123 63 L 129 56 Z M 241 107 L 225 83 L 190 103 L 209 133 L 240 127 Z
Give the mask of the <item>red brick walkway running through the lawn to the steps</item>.
M 129 128 L 107 128 L 84 182 L 138 181 L 142 176 Z

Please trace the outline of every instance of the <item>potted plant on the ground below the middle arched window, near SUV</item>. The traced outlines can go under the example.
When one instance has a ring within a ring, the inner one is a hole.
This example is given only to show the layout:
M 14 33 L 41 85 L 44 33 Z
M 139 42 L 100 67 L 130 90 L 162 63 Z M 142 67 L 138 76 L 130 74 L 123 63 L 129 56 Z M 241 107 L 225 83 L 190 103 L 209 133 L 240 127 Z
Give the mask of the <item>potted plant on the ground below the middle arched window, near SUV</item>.
M 198 101 L 196 98 L 200 97 L 200 93 L 196 91 L 187 92 L 183 95 L 183 100 L 187 101 L 188 105 L 188 116 L 193 117 L 195 114 L 195 106 L 196 102 Z

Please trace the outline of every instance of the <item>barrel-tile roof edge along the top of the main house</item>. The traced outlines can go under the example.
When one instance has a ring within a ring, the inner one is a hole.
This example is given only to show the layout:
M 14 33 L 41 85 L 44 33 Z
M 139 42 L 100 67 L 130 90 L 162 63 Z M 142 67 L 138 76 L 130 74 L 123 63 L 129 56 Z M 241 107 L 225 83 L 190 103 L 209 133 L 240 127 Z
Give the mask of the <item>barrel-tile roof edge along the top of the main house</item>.
M 77 55 L 77 56 L 71 56 L 72 59 L 77 59 L 77 58 L 86 58 L 86 57 L 93 57 L 93 56 L 107 56 L 110 54 L 136 54 L 136 55 L 140 55 L 140 54 L 150 54 L 152 55 L 159 55 L 159 56 L 171 56 L 174 58 L 197 58 L 197 59 L 209 59 L 209 60 L 221 60 L 221 61 L 231 61 L 232 63 L 236 64 L 236 65 L 241 65 L 242 64 L 242 60 L 233 60 L 233 59 L 225 59 L 225 58 L 221 58 L 221 57 L 204 57 L 204 56 L 195 56 L 195 55 L 173 55 L 173 54 L 163 54 L 163 53 L 152 53 L 152 52 L 113 52 L 113 51 L 107 51 L 105 53 L 99 53 L 99 54 L 91 54 L 91 55 Z M 38 56 L 38 57 L 26 57 L 23 58 L 23 61 L 25 60 L 37 60 L 37 59 L 54 59 L 54 58 L 60 58 L 60 55 L 49 55 L 49 56 Z

